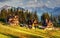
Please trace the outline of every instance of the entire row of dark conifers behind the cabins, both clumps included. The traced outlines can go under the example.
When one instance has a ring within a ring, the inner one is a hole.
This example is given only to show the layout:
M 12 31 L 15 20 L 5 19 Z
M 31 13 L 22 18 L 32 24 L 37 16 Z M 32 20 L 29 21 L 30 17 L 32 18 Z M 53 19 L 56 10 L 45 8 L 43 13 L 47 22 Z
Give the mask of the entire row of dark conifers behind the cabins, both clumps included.
M 41 22 L 39 22 L 39 17 L 37 15 L 37 11 L 30 12 L 25 9 L 19 9 L 19 8 L 10 8 L 10 9 L 2 9 L 0 11 L 0 21 L 2 22 L 8 22 L 9 16 L 19 16 L 19 22 L 27 24 L 28 20 L 37 20 L 38 23 L 42 23 L 46 18 L 48 20 L 52 20 L 54 24 L 56 25 L 57 19 L 56 17 L 52 17 L 52 15 L 49 15 L 48 13 L 43 13 L 41 16 Z M 58 16 L 58 21 L 60 22 L 60 16 Z

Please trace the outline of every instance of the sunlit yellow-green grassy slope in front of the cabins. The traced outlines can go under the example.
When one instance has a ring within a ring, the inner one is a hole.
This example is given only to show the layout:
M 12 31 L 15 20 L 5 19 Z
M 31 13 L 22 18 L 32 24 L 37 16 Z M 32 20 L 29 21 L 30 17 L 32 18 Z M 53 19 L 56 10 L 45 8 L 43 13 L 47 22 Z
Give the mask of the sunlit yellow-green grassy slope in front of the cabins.
M 60 30 L 28 29 L 0 24 L 0 38 L 60 38 Z

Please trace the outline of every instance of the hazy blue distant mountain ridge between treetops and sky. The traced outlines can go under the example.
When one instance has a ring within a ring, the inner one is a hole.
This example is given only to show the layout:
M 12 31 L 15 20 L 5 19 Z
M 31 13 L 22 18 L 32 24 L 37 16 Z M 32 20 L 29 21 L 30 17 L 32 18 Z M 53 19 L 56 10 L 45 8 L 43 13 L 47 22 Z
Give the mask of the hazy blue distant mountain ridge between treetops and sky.
M 15 9 L 20 9 L 20 10 L 26 10 L 28 9 L 29 11 L 37 11 L 37 14 L 42 14 L 43 12 L 48 12 L 48 13 L 52 13 L 54 16 L 55 15 L 60 15 L 60 7 L 55 7 L 55 8 L 49 8 L 47 6 L 42 6 L 42 7 L 26 7 L 26 8 L 22 8 L 22 7 L 12 7 L 12 6 L 8 6 L 8 5 L 4 5 L 0 8 L 1 9 L 10 9 L 10 8 L 15 8 Z

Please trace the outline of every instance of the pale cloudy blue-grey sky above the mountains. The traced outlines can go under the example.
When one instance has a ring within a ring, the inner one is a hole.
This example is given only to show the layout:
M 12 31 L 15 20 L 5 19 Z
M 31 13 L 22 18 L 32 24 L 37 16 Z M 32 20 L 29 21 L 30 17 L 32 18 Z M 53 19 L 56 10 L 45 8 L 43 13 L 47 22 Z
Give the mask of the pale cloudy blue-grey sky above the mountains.
M 60 7 L 60 0 L 0 0 L 0 7 L 4 5 L 15 7 L 42 7 L 47 6 L 49 8 Z

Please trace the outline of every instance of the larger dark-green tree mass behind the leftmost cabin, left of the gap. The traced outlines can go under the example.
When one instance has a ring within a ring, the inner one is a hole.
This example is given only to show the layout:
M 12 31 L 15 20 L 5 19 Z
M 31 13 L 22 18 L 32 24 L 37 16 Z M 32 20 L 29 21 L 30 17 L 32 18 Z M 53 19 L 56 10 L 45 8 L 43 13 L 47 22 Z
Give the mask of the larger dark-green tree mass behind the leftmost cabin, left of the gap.
M 24 11 L 23 9 L 15 9 L 15 8 L 10 8 L 10 9 L 2 9 L 0 13 L 0 21 L 6 21 L 9 16 L 14 16 L 18 15 L 19 16 L 19 21 L 20 23 L 25 23 L 27 20 L 32 20 L 32 19 L 37 19 L 37 12 L 29 12 L 28 10 Z

